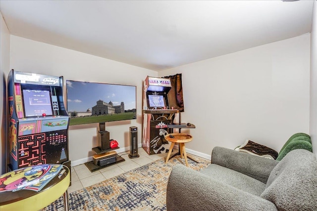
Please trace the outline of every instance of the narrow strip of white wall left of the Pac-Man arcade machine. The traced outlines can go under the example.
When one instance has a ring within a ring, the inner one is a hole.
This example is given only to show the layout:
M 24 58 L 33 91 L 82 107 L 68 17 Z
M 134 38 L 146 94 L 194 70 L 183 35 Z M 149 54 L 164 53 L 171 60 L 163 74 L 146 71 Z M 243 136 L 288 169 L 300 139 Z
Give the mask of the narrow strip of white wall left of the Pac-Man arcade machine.
M 6 172 L 6 77 L 10 68 L 10 33 L 0 13 L 0 174 Z

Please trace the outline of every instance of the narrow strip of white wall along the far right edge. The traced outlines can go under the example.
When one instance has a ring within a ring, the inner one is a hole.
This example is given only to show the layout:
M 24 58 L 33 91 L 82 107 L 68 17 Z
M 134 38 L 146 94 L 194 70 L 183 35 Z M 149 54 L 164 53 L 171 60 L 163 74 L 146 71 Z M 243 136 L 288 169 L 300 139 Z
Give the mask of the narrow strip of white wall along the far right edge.
M 314 1 L 311 31 L 311 103 L 310 103 L 310 135 L 313 152 L 317 155 L 317 0 Z

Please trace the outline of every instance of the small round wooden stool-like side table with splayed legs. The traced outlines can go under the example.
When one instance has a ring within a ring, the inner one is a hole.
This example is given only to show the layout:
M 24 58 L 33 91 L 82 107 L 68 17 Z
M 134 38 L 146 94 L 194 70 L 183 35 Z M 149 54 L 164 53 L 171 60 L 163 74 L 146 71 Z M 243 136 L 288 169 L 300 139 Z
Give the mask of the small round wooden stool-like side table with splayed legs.
M 165 164 L 167 164 L 167 161 L 170 157 L 170 154 L 172 153 L 173 147 L 175 143 L 178 143 L 179 151 L 180 151 L 180 156 L 185 159 L 186 166 L 188 167 L 188 162 L 187 162 L 187 155 L 186 155 L 186 150 L 185 150 L 185 143 L 190 142 L 193 140 L 193 136 L 186 134 L 186 133 L 169 133 L 165 135 L 165 139 L 167 141 L 172 142 L 167 154 L 167 158 L 165 161 Z

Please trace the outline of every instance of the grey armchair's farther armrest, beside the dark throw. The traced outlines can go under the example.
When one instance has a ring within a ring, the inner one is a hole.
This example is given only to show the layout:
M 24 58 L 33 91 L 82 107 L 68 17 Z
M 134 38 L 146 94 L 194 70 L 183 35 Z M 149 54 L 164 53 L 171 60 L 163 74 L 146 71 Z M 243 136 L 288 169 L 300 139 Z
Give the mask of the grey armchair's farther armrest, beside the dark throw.
M 278 161 L 224 147 L 214 147 L 211 163 L 241 172 L 266 184 L 270 172 Z

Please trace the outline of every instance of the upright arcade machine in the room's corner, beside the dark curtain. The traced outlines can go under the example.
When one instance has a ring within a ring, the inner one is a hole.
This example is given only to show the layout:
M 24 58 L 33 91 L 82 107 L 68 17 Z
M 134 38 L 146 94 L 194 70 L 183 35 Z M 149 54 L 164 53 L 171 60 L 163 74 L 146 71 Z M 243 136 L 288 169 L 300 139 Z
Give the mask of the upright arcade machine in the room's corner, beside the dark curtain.
M 149 154 L 168 152 L 170 143 L 165 135 L 179 110 L 169 107 L 167 93 L 170 79 L 147 77 L 143 84 L 142 147 Z

